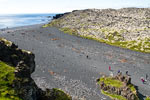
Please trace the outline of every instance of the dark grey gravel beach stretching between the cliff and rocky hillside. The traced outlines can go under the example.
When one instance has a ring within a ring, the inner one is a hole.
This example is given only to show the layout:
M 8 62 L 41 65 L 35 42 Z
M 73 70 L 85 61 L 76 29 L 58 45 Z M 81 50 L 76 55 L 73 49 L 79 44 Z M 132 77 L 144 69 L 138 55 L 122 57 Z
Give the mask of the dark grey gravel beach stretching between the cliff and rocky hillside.
M 110 100 L 100 93 L 96 79 L 102 74 L 109 75 L 108 66 L 111 66 L 114 74 L 118 70 L 123 73 L 128 70 L 139 92 L 150 96 L 150 81 L 146 84 L 140 81 L 146 74 L 150 76 L 150 54 L 109 46 L 64 34 L 54 27 L 41 26 L 0 30 L 0 37 L 35 54 L 36 69 L 32 77 L 42 89 L 61 88 L 73 100 Z

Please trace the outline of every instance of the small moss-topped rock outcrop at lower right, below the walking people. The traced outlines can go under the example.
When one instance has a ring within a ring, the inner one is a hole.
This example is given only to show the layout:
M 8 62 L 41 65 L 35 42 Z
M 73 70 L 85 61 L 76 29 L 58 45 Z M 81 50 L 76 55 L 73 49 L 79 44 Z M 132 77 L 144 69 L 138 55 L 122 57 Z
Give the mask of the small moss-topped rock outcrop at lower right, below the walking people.
M 128 75 L 119 73 L 115 77 L 103 76 L 98 79 L 101 92 L 112 99 L 117 100 L 139 100 L 137 90 L 131 84 L 131 78 Z

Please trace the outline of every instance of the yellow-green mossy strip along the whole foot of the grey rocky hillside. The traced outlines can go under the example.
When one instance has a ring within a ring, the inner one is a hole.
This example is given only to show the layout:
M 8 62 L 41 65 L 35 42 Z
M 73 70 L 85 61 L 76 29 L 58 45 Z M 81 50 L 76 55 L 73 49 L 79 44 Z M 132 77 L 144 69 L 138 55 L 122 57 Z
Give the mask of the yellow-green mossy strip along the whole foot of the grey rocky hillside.
M 68 16 L 67 16 L 68 17 Z M 50 24 L 46 24 L 43 27 L 51 27 L 51 26 L 58 26 L 59 24 L 63 22 L 63 19 L 55 19 L 53 20 Z M 69 27 L 63 27 L 60 28 L 61 31 L 63 31 L 64 33 L 68 33 L 71 35 L 77 35 L 86 39 L 91 39 L 91 40 L 96 40 L 98 42 L 103 42 L 103 43 L 107 43 L 109 45 L 113 45 L 113 46 L 118 46 L 118 47 L 122 47 L 122 48 L 127 48 L 130 50 L 134 50 L 134 51 L 138 51 L 138 52 L 144 52 L 144 53 L 150 53 L 150 38 L 145 38 L 145 39 L 138 39 L 138 41 L 132 40 L 132 41 L 122 41 L 123 37 L 121 36 L 121 31 L 115 31 L 115 30 L 110 30 L 110 29 L 99 29 L 101 32 L 103 32 L 103 34 L 105 34 L 106 39 L 103 38 L 98 38 L 95 37 L 93 35 L 89 35 L 89 34 L 84 34 L 84 35 L 79 35 L 78 34 L 78 30 L 77 29 L 70 29 Z M 90 29 L 83 29 L 82 31 L 86 31 L 87 33 Z M 81 31 L 81 30 L 79 30 Z M 122 30 L 124 31 L 124 30 Z M 107 34 L 106 34 L 107 33 Z

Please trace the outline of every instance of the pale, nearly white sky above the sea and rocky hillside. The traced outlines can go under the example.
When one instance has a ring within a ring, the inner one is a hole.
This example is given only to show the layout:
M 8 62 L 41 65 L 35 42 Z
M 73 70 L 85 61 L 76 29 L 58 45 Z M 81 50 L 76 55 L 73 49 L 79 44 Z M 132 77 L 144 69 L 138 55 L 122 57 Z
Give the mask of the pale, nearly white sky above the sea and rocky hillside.
M 0 14 L 64 13 L 96 8 L 149 7 L 150 0 L 0 0 Z

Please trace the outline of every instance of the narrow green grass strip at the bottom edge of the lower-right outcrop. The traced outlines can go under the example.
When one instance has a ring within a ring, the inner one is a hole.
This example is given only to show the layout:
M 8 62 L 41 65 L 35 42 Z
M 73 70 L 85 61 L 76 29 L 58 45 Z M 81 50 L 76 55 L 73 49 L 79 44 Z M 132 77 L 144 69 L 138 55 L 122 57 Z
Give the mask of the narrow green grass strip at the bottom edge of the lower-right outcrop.
M 125 97 L 116 95 L 116 94 L 111 94 L 106 91 L 101 90 L 102 94 L 109 96 L 111 99 L 118 99 L 118 100 L 127 100 Z

